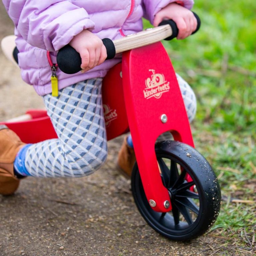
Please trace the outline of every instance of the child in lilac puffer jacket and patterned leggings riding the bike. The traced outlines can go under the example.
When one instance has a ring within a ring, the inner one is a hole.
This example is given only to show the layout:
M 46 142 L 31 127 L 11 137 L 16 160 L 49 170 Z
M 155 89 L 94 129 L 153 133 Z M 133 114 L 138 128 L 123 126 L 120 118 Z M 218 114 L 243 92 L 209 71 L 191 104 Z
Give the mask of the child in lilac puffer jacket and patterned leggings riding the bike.
M 58 139 L 25 144 L 6 126 L 0 127 L 0 194 L 3 195 L 14 193 L 23 177 L 81 177 L 97 170 L 106 160 L 101 82 L 120 58 L 104 61 L 106 49 L 100 39 L 115 40 L 142 30 L 142 16 L 154 26 L 163 19 L 173 19 L 179 28 L 178 39 L 189 36 L 197 25 L 188 10 L 192 0 L 3 0 L 3 3 L 15 25 L 22 78 L 43 96 L 58 135 Z M 56 52 L 66 44 L 80 53 L 81 72 L 67 75 L 57 70 L 56 92 L 51 86 L 53 67 L 49 64 L 56 63 Z M 194 97 L 190 87 L 183 94 L 186 92 Z M 56 93 L 58 96 L 53 96 Z M 195 106 L 195 98 L 192 103 Z

